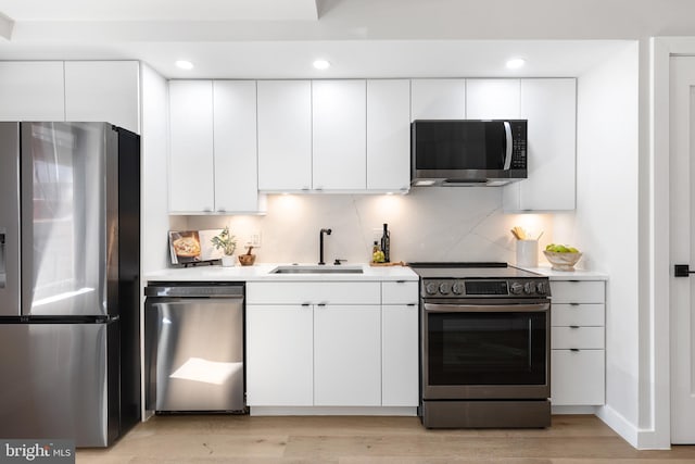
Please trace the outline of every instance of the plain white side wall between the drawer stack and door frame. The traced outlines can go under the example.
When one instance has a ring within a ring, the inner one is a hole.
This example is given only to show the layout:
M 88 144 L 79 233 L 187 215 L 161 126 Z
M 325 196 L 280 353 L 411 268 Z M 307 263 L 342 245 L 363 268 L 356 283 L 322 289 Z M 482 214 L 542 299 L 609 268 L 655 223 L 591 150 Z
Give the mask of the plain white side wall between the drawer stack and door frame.
M 606 407 L 602 418 L 636 446 L 640 423 L 639 43 L 578 78 L 577 210 L 557 215 L 610 276 L 606 313 Z M 561 240 L 560 240 L 561 241 Z

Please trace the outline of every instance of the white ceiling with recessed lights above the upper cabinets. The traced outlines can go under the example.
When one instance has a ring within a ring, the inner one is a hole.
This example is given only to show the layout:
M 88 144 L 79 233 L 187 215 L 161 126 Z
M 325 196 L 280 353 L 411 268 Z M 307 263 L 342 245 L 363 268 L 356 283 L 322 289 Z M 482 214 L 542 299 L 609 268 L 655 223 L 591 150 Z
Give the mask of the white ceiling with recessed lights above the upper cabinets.
M 695 2 L 659 1 L 0 0 L 0 60 L 142 60 L 169 78 L 577 76 L 645 34 L 695 35 Z M 511 57 L 527 66 L 506 70 Z

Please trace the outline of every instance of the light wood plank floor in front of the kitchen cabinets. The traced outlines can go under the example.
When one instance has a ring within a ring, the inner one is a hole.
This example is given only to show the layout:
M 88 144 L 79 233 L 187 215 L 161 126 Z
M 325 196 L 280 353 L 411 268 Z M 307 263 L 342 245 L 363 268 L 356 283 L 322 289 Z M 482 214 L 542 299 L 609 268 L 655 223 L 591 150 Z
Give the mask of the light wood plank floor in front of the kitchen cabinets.
M 77 463 L 695 463 L 695 447 L 636 451 L 592 415 L 547 429 L 427 430 L 417 417 L 155 416 Z

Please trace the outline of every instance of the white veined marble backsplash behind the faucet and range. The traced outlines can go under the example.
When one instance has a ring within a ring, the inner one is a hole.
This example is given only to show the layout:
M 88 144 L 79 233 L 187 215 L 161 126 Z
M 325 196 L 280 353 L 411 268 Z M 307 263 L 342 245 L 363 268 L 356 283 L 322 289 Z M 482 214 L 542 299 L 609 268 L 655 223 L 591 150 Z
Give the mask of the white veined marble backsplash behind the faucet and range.
M 336 258 L 368 262 L 374 229 L 391 231 L 391 261 L 516 261 L 515 225 L 553 236 L 547 214 L 504 214 L 500 188 L 418 188 L 401 196 L 277 195 L 268 196 L 265 216 L 188 216 L 192 229 L 229 225 L 239 238 L 238 252 L 255 230 L 262 234 L 258 262 L 318 262 L 318 235 L 325 239 L 325 261 Z M 165 236 L 161 236 L 164 240 Z M 544 259 L 540 259 L 545 262 Z

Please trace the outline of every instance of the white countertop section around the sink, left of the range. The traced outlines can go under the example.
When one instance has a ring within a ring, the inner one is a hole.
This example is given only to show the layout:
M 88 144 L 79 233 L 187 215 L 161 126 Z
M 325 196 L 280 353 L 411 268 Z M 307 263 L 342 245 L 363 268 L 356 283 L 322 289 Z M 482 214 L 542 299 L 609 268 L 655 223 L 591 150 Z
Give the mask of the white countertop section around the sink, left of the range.
M 166 268 L 148 273 L 144 279 L 148 281 L 369 281 L 369 280 L 417 280 L 418 276 L 406 266 L 370 266 L 361 264 L 363 274 L 270 274 L 278 266 L 290 264 L 261 263 L 253 266 L 223 267 L 195 266 Z M 313 266 L 313 264 L 301 264 Z M 342 267 L 355 267 L 356 265 L 342 265 Z M 327 264 L 325 267 L 340 267 Z

